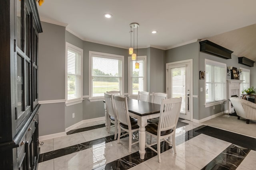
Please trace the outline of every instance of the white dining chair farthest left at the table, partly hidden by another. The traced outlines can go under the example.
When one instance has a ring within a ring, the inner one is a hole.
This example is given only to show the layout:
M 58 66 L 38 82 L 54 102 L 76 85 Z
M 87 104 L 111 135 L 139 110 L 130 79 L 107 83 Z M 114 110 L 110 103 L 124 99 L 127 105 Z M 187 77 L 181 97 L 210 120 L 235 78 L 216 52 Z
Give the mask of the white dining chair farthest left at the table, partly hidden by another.
M 110 118 L 110 122 L 114 123 L 114 125 L 115 125 L 114 140 L 116 140 L 117 132 L 118 132 L 118 121 L 117 121 L 116 113 L 114 111 L 113 95 L 112 94 L 104 93 L 104 96 L 105 96 L 105 104 L 106 104 L 107 113 L 108 113 L 109 118 Z M 110 131 L 110 124 L 108 125 L 108 133 L 109 133 L 109 131 Z

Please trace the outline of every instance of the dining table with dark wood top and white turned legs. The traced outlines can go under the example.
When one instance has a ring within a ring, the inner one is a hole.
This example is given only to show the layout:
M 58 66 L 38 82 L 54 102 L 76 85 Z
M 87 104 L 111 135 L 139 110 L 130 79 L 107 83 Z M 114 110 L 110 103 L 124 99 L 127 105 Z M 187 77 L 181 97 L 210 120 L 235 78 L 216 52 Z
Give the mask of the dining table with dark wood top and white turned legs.
M 128 111 L 130 113 L 130 116 L 138 119 L 138 125 L 139 125 L 139 153 L 140 153 L 140 159 L 144 159 L 146 150 L 145 150 L 145 144 L 146 144 L 146 125 L 148 124 L 148 119 L 156 118 L 160 116 L 160 104 L 154 104 L 150 102 L 144 102 L 136 99 L 127 98 L 128 102 Z M 106 113 L 106 110 L 105 110 Z M 106 113 L 107 114 L 107 113 Z M 106 127 L 108 123 L 109 118 L 106 115 Z

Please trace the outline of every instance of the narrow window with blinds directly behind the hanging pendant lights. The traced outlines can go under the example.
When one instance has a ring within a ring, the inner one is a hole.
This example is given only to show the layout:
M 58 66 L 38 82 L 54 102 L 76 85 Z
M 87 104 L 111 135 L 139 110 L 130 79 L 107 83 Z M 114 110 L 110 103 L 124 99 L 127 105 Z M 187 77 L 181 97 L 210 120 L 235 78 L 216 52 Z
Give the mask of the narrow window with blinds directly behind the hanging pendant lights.
M 135 68 L 135 63 L 140 63 Z M 138 56 L 138 61 L 128 57 L 128 95 L 137 96 L 138 91 L 147 91 L 147 56 Z

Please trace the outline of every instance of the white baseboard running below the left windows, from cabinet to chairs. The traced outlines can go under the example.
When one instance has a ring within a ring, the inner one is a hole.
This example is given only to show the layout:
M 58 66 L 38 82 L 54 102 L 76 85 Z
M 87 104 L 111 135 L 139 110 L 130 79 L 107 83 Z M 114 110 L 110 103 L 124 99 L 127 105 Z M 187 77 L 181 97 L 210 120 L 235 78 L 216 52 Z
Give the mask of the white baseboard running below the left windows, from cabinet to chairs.
M 74 129 L 75 127 L 82 125 L 83 123 L 88 123 L 88 122 L 92 122 L 92 121 L 100 121 L 100 120 L 105 120 L 105 116 L 104 117 L 97 117 L 94 119 L 86 119 L 86 120 L 82 120 L 74 125 L 71 125 L 70 127 L 67 127 L 65 129 L 65 132 L 60 132 L 60 133 L 54 133 L 54 134 L 50 134 L 50 135 L 44 135 L 44 136 L 40 136 L 39 137 L 39 141 L 44 141 L 47 139 L 52 139 L 52 138 L 56 138 L 56 137 L 62 137 L 62 136 L 66 136 L 67 132 Z

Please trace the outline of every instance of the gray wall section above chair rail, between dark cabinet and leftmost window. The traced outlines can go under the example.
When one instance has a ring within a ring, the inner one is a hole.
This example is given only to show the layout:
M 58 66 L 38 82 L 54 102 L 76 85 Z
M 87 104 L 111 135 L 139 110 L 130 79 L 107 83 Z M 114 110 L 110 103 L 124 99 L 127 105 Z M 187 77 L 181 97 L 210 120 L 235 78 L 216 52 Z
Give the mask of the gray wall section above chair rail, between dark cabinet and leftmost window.
M 38 98 L 65 99 L 65 27 L 42 22 L 39 34 Z

